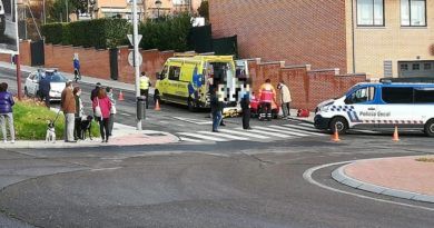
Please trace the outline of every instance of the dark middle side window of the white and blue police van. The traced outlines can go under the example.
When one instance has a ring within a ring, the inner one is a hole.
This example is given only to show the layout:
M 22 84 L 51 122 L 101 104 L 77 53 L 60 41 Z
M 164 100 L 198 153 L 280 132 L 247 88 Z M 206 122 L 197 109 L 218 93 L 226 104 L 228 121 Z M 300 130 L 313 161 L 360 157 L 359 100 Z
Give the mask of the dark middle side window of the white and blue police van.
M 383 87 L 382 99 L 386 103 L 413 103 L 413 88 Z

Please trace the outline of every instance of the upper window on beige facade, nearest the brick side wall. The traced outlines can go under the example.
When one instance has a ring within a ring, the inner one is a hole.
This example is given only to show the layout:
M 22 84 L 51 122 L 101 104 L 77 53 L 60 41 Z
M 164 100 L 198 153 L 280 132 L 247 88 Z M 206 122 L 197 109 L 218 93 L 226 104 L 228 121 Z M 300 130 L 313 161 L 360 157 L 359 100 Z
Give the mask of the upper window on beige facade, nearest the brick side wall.
M 357 0 L 357 26 L 384 26 L 384 0 Z

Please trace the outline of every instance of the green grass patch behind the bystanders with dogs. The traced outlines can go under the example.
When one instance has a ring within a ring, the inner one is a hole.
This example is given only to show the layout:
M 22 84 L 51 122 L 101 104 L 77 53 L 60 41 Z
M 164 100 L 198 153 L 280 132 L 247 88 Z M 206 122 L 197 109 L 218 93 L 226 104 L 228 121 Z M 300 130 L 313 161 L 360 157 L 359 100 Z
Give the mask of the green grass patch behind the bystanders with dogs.
M 13 121 L 18 140 L 45 140 L 47 121 L 56 119 L 56 112 L 47 109 L 42 102 L 33 100 L 16 100 L 13 106 Z M 59 115 L 56 121 L 56 138 L 63 139 L 65 116 Z M 91 129 L 93 137 L 99 137 L 99 126 L 93 121 Z

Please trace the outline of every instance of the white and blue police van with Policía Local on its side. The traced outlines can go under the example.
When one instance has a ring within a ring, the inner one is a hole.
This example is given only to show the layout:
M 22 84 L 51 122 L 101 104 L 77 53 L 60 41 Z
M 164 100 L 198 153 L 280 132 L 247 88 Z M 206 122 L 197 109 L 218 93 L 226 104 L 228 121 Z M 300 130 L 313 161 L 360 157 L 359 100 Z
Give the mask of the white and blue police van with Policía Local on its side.
M 358 83 L 315 110 L 317 129 L 422 130 L 434 137 L 434 83 Z

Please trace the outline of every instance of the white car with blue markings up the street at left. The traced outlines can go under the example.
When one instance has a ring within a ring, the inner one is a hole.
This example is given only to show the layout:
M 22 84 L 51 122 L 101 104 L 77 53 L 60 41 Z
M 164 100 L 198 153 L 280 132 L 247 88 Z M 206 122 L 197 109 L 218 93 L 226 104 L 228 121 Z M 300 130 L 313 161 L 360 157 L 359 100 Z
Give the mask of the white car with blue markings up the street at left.
M 67 81 L 57 70 L 39 69 L 27 77 L 24 93 L 28 97 L 49 96 L 50 100 L 60 100 Z

